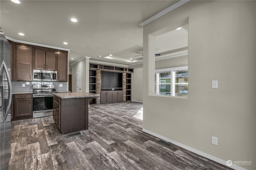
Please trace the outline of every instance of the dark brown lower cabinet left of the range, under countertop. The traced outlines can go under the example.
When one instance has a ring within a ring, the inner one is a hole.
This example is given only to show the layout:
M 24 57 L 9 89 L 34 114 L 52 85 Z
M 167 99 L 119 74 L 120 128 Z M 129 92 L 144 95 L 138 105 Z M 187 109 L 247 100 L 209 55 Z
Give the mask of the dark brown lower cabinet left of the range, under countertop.
M 12 120 L 32 118 L 32 94 L 14 94 L 12 104 Z

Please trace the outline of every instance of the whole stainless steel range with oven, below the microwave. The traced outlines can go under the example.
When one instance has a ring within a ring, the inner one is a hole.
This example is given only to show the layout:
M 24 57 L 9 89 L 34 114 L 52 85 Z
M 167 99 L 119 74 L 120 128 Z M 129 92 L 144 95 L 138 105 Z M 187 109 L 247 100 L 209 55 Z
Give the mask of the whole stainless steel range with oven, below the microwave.
M 53 115 L 55 85 L 33 85 L 33 118 Z

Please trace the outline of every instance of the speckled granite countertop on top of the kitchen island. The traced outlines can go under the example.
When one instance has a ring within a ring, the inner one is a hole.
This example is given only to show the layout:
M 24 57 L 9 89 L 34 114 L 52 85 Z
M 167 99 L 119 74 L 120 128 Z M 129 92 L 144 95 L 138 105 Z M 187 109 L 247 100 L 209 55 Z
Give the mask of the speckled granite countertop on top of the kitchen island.
M 61 99 L 93 98 L 93 97 L 99 97 L 100 96 L 100 94 L 86 93 L 86 92 L 54 93 L 53 95 L 57 96 Z

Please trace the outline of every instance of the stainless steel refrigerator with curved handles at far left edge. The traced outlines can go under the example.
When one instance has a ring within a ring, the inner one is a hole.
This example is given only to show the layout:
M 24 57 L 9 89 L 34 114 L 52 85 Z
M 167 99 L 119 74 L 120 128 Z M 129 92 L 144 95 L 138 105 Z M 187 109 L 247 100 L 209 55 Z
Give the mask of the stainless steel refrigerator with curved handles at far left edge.
M 11 102 L 10 44 L 0 27 L 0 170 L 8 169 L 11 157 Z

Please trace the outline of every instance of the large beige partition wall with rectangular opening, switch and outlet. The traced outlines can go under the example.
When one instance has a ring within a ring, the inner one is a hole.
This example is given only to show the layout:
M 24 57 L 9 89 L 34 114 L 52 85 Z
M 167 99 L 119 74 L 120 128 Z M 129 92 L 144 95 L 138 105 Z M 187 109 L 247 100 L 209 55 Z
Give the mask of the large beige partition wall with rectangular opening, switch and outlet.
M 256 1 L 190 1 L 144 25 L 143 130 L 256 169 Z M 188 99 L 154 92 L 155 31 L 188 18 Z M 218 89 L 211 81 L 218 80 Z M 218 146 L 211 144 L 218 137 Z M 214 158 L 212 157 L 212 158 Z

